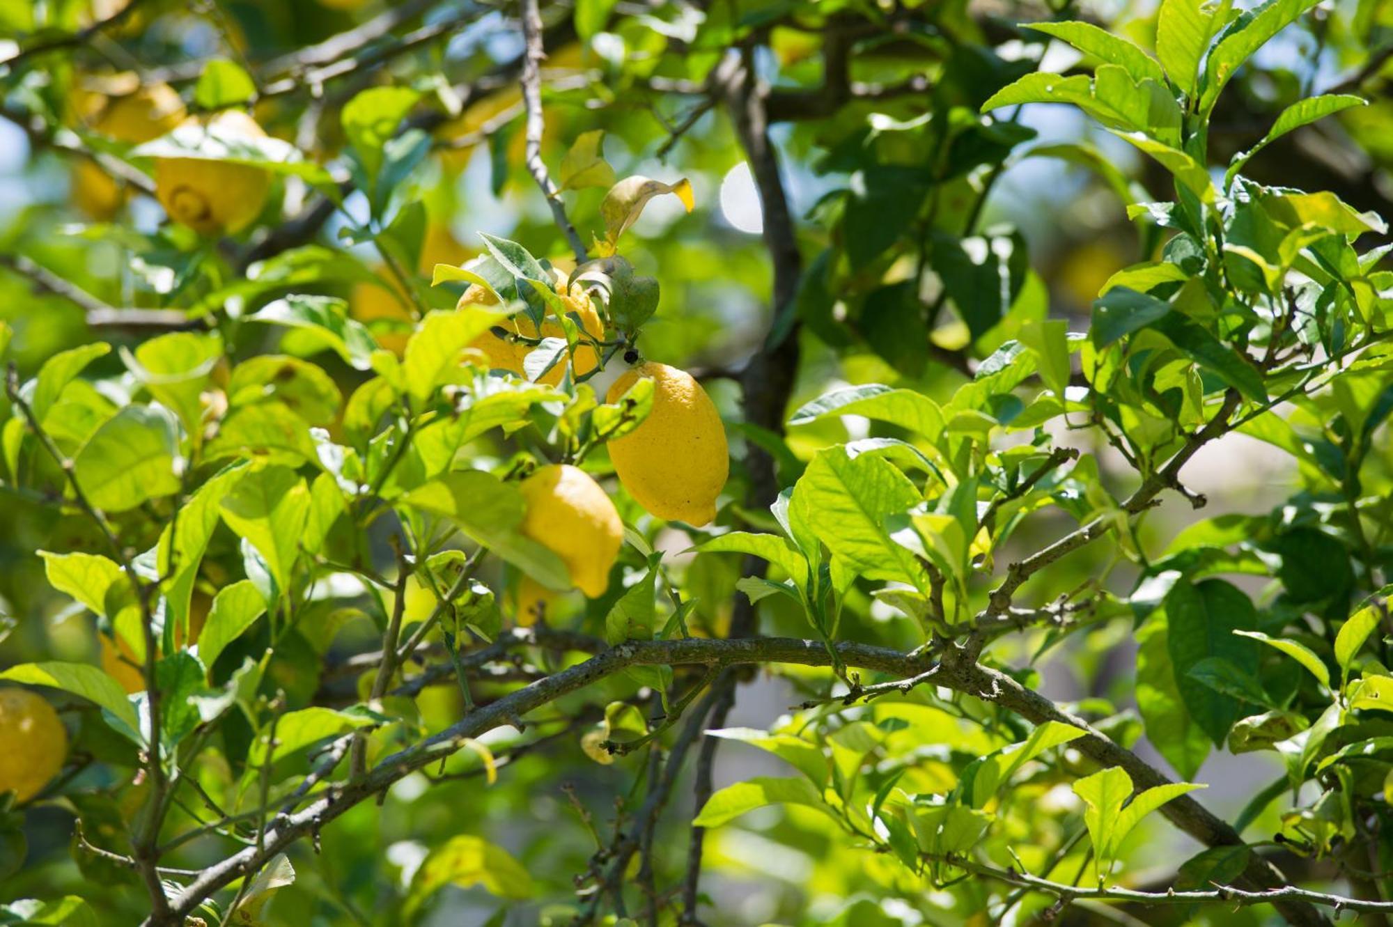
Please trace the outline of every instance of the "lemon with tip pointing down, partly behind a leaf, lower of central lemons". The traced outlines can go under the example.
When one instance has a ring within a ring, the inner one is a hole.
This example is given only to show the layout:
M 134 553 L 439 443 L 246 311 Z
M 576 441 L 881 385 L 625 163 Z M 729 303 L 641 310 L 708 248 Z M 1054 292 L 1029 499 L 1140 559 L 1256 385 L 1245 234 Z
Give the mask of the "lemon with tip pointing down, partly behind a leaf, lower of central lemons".
M 591 599 L 603 596 L 624 543 L 624 522 L 610 497 L 570 464 L 538 469 L 521 490 L 527 501 L 522 534 L 560 557 L 577 589 Z

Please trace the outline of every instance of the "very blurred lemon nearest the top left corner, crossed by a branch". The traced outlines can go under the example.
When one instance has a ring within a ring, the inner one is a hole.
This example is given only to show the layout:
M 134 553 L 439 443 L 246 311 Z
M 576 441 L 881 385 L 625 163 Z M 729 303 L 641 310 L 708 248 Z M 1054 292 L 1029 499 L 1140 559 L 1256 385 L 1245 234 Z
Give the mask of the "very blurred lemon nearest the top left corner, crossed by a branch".
M 88 128 L 128 145 L 139 145 L 174 129 L 184 120 L 184 100 L 167 84 L 138 88 L 125 96 L 86 93 L 77 102 Z M 72 166 L 72 200 L 93 219 L 110 219 L 124 202 L 124 191 L 96 161 Z

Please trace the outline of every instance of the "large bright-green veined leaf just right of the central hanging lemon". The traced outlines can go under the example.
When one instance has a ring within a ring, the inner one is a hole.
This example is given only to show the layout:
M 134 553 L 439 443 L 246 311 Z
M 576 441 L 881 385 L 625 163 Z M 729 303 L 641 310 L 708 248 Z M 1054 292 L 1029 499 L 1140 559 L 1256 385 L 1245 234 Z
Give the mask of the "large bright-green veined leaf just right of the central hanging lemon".
M 797 493 L 808 522 L 823 544 L 868 579 L 907 582 L 925 590 L 926 575 L 914 554 L 890 540 L 886 519 L 921 501 L 914 483 L 885 459 L 846 448 L 819 451 Z

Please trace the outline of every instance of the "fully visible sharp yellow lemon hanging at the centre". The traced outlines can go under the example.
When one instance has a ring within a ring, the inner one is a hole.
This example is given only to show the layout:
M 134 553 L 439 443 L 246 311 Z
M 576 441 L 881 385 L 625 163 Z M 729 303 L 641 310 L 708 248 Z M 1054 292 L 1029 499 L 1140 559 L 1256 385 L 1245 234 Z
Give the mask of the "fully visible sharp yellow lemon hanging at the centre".
M 639 377 L 653 379 L 653 409 L 609 443 L 614 472 L 651 514 L 701 528 L 716 518 L 716 497 L 730 475 L 726 427 L 706 390 L 666 363 L 634 367 L 614 381 L 607 401 L 617 401 Z

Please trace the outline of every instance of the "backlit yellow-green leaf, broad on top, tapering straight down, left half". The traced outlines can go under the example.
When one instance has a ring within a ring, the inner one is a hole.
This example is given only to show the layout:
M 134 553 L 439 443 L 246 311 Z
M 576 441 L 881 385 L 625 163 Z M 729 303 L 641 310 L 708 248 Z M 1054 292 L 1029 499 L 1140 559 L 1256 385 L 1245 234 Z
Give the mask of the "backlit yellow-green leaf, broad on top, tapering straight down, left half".
M 279 592 L 290 592 L 291 571 L 309 516 L 305 480 L 284 466 L 252 470 L 223 497 L 221 514 L 227 526 L 266 561 Z

